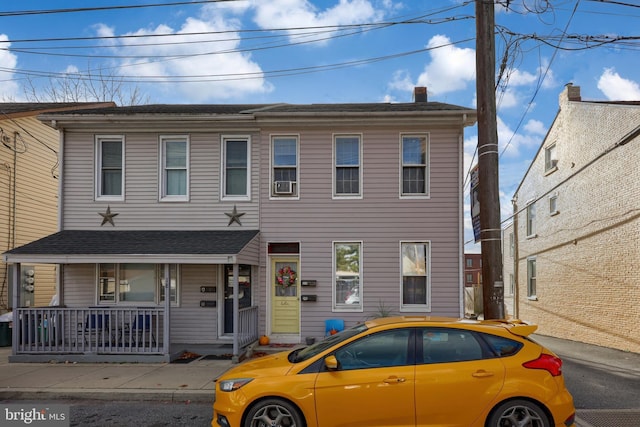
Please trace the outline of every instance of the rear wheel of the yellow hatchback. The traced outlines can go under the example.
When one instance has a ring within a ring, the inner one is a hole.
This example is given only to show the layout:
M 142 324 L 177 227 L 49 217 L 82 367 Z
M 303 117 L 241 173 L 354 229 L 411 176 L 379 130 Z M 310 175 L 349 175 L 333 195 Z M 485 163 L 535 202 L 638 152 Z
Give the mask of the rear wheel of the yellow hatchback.
M 551 427 L 547 413 L 528 400 L 509 400 L 496 406 L 486 427 Z

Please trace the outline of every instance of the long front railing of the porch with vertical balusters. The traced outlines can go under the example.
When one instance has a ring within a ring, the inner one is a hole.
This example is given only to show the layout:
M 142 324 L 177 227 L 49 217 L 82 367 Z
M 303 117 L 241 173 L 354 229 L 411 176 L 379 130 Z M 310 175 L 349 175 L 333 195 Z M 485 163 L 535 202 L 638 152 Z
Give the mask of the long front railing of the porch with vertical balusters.
M 163 318 L 162 308 L 19 308 L 18 324 L 13 325 L 18 334 L 14 351 L 166 354 Z

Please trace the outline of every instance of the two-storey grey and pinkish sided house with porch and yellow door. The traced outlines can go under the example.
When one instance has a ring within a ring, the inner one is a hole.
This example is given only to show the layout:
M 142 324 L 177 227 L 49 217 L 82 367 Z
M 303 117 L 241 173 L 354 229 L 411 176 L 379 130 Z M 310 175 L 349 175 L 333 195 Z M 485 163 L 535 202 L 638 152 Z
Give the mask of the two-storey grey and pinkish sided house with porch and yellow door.
M 148 105 L 41 116 L 62 134 L 61 265 L 10 360 L 170 360 L 300 343 L 325 320 L 463 314 L 464 128 L 427 102 Z M 14 284 L 14 286 L 16 286 Z M 52 324 L 55 326 L 52 327 Z M 46 331 L 45 326 L 47 327 Z

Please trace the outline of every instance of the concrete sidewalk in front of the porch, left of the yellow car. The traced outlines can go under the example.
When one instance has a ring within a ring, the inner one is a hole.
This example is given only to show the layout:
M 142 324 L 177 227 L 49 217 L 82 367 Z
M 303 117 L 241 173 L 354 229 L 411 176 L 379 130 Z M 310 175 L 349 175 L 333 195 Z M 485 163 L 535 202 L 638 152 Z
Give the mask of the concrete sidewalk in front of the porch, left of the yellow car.
M 230 360 L 177 363 L 8 363 L 0 348 L 0 400 L 213 402 Z

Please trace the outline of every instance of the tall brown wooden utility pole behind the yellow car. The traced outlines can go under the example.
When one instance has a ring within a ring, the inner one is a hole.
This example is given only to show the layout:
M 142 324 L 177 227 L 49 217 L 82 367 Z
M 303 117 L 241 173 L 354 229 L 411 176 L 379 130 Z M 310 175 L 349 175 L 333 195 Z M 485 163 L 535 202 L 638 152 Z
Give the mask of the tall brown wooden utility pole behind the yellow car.
M 476 0 L 476 93 L 482 306 L 485 319 L 503 319 L 502 230 L 498 185 L 494 2 Z

